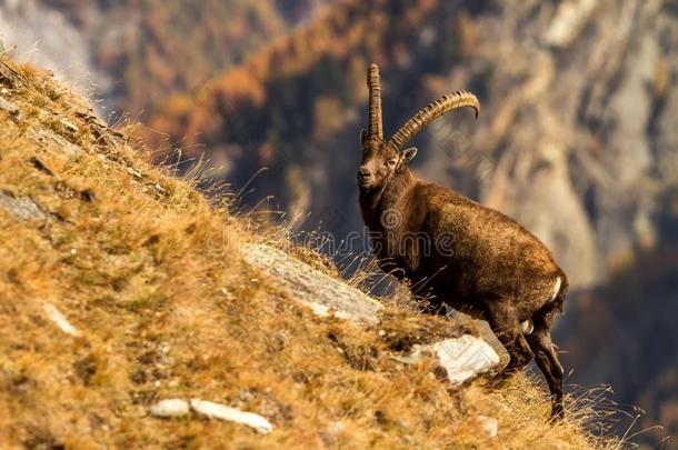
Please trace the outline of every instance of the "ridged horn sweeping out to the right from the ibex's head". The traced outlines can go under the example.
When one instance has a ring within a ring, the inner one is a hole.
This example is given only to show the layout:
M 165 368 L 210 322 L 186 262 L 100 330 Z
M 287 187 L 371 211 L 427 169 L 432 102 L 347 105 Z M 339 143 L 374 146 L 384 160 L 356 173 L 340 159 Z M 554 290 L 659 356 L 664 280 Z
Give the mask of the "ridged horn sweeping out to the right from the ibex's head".
M 476 110 L 476 119 L 480 113 L 480 102 L 470 92 L 457 91 L 451 94 L 442 96 L 432 103 L 429 103 L 421 111 L 417 112 L 389 139 L 388 144 L 396 150 L 400 150 L 415 136 L 419 134 L 429 123 L 455 109 L 470 107 Z

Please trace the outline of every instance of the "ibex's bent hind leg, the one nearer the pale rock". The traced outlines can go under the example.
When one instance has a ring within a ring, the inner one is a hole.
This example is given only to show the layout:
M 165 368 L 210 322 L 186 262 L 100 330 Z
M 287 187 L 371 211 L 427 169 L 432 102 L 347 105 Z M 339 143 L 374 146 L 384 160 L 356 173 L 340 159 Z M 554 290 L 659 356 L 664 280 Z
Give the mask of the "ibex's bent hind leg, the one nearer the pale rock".
M 508 366 L 498 376 L 498 381 L 501 381 L 527 366 L 534 354 L 522 333 L 518 314 L 510 302 L 490 302 L 486 306 L 486 318 L 510 357 Z

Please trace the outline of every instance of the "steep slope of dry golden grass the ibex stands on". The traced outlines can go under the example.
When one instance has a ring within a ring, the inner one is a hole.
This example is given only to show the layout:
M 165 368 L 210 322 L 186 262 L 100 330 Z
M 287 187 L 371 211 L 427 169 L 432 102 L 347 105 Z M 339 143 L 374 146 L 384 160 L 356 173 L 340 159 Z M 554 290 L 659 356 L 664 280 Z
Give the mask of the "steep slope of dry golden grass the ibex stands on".
M 449 389 L 431 361 L 390 358 L 460 326 L 396 307 L 365 328 L 315 316 L 246 261 L 246 242 L 287 247 L 282 231 L 209 204 L 83 103 L 0 57 L 1 448 L 618 444 L 586 431 L 587 399 L 549 424 L 529 374 Z M 151 417 L 167 398 L 241 408 L 275 430 Z M 496 438 L 480 417 L 497 419 Z

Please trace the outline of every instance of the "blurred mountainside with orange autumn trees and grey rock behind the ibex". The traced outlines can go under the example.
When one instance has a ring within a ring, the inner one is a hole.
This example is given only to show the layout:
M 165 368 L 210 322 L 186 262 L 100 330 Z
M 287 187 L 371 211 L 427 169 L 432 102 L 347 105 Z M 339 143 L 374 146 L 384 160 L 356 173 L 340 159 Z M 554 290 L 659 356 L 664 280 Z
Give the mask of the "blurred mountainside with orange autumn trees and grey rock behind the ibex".
M 638 441 L 678 434 L 678 2 L 0 0 L 0 38 L 141 122 L 158 161 L 207 158 L 242 210 L 337 240 L 362 230 L 368 63 L 387 134 L 475 92 L 478 121 L 429 127 L 416 171 L 548 243 L 572 286 L 569 383 L 644 409 L 631 433 L 665 427 Z

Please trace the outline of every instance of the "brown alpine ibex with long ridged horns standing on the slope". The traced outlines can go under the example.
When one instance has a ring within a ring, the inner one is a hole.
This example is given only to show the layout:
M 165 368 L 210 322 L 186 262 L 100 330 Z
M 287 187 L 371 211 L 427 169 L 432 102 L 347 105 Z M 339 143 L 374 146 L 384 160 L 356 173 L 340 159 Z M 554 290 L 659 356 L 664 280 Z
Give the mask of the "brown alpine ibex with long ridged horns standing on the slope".
M 548 382 L 551 417 L 564 416 L 562 366 L 550 329 L 568 281 L 549 249 L 512 219 L 443 187 L 417 179 L 406 142 L 440 116 L 480 111 L 470 92 L 443 96 L 383 139 L 379 68 L 368 70 L 369 127 L 360 136 L 360 210 L 379 266 L 433 301 L 489 322 L 510 356 L 501 378 L 532 358 Z M 422 239 L 423 238 L 423 239 Z

